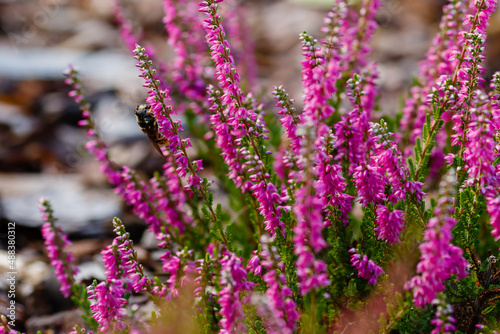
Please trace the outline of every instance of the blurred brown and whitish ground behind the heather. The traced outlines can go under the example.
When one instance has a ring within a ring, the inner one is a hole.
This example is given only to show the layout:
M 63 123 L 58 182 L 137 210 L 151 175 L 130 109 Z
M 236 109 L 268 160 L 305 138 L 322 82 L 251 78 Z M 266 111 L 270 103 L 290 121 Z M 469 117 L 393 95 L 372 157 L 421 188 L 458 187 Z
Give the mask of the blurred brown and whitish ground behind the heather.
M 372 54 L 380 71 L 381 113 L 395 115 L 400 110 L 445 3 L 383 1 Z M 300 101 L 299 33 L 305 30 L 321 37 L 330 5 L 328 0 L 246 2 L 259 83 L 268 98 L 273 85 L 283 84 Z M 155 46 L 159 59 L 168 61 L 172 51 L 161 21 L 161 0 L 125 1 L 124 6 L 134 31 Z M 60 328 L 65 322 L 74 325 L 74 317 L 68 316 L 71 322 L 64 312 L 57 313 L 68 301 L 50 279 L 53 274 L 43 255 L 41 196 L 51 199 L 60 225 L 75 241 L 72 251 L 77 258 L 88 257 L 83 275 L 99 278 L 92 254 L 111 240 L 112 217 L 128 224 L 139 250 L 147 249 L 152 239 L 143 234 L 144 225 L 113 193 L 83 146 L 85 134 L 77 125 L 81 114 L 63 82 L 62 71 L 69 63 L 80 70 L 112 159 L 145 175 L 160 169 L 163 162 L 133 115 L 146 91 L 120 38 L 111 0 L 0 0 L 0 233 L 4 248 L 5 225 L 16 223 L 18 267 L 24 268 L 20 289 L 25 296 L 19 323 L 26 330 L 51 323 L 61 324 Z M 489 28 L 486 68 L 487 77 L 500 69 L 498 13 Z M 2 250 L 0 271 L 7 271 L 6 264 Z M 3 284 L 0 281 L 0 290 Z M 2 308 L 4 298 L 0 293 Z

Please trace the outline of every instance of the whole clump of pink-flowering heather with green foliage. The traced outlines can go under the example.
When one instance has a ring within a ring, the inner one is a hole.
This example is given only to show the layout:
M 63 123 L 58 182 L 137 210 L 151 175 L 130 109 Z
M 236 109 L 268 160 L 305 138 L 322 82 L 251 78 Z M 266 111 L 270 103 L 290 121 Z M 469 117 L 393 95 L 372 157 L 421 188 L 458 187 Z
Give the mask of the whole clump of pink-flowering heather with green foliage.
M 336 0 L 323 36 L 300 35 L 299 103 L 281 85 L 273 103 L 257 94 L 244 5 L 163 4 L 171 63 L 140 46 L 115 3 L 147 88 L 138 103 L 162 139 L 151 179 L 111 160 L 78 71 L 65 72 L 87 149 L 162 251 L 155 276 L 115 218 L 106 280 L 85 288 L 42 202 L 49 258 L 87 331 L 500 329 L 500 73 L 487 78 L 482 65 L 496 1 L 443 7 L 401 113 L 383 119 L 369 58 L 379 1 Z

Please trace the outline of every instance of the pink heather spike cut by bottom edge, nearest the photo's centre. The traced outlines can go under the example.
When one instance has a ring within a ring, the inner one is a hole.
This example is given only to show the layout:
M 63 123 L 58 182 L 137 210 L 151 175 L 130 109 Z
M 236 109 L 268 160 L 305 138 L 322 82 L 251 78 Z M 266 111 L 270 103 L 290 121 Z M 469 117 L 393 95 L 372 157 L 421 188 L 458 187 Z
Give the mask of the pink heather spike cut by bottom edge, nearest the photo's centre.
M 267 333 L 293 333 L 300 314 L 292 298 L 292 290 L 286 282 L 285 264 L 281 262 L 277 248 L 270 247 L 272 241 L 267 235 L 261 237 L 262 251 L 253 252 L 254 256 L 248 261 L 247 270 L 256 276 L 262 275 L 262 280 L 268 286 L 265 292 L 267 298 L 257 304 L 258 312 L 267 325 Z

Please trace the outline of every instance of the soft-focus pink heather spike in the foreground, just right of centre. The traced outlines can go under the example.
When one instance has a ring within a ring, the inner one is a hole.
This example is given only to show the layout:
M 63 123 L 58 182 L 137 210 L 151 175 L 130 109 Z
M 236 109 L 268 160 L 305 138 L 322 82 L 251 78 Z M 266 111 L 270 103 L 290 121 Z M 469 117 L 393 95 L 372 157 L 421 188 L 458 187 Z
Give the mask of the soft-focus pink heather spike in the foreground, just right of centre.
M 314 255 L 327 246 L 322 236 L 322 230 L 326 225 L 323 219 L 325 208 L 333 207 L 338 211 L 339 218 L 347 223 L 352 201 L 352 197 L 344 193 L 346 183 L 342 177 L 341 167 L 331 164 L 333 158 L 329 152 L 334 142 L 331 129 L 325 124 L 320 124 L 317 136 L 313 145 L 304 139 L 302 155 L 304 169 L 307 172 L 298 174 L 297 182 L 303 184 L 295 191 L 296 203 L 293 206 L 297 219 L 293 237 L 294 252 L 298 255 L 297 276 L 302 295 L 311 289 L 318 289 L 330 283 L 326 274 L 326 264 L 317 260 Z M 314 180 L 314 176 L 318 180 Z M 337 212 L 331 213 L 337 214 Z

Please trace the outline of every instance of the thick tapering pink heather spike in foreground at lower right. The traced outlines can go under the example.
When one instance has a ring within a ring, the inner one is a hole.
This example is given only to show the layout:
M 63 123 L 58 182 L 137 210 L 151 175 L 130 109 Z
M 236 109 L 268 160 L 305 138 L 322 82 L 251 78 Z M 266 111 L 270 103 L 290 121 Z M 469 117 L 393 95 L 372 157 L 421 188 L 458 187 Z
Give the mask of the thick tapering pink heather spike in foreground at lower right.
M 462 256 L 460 247 L 451 244 L 453 235 L 451 230 L 456 225 L 453 218 L 453 197 L 455 173 L 450 169 L 442 184 L 444 193 L 438 200 L 434 210 L 435 217 L 429 219 L 424 232 L 424 243 L 419 246 L 420 262 L 417 264 L 417 273 L 405 285 L 406 289 L 413 289 L 413 302 L 424 307 L 430 304 L 445 289 L 444 281 L 456 274 L 458 279 L 467 275 L 468 262 Z

